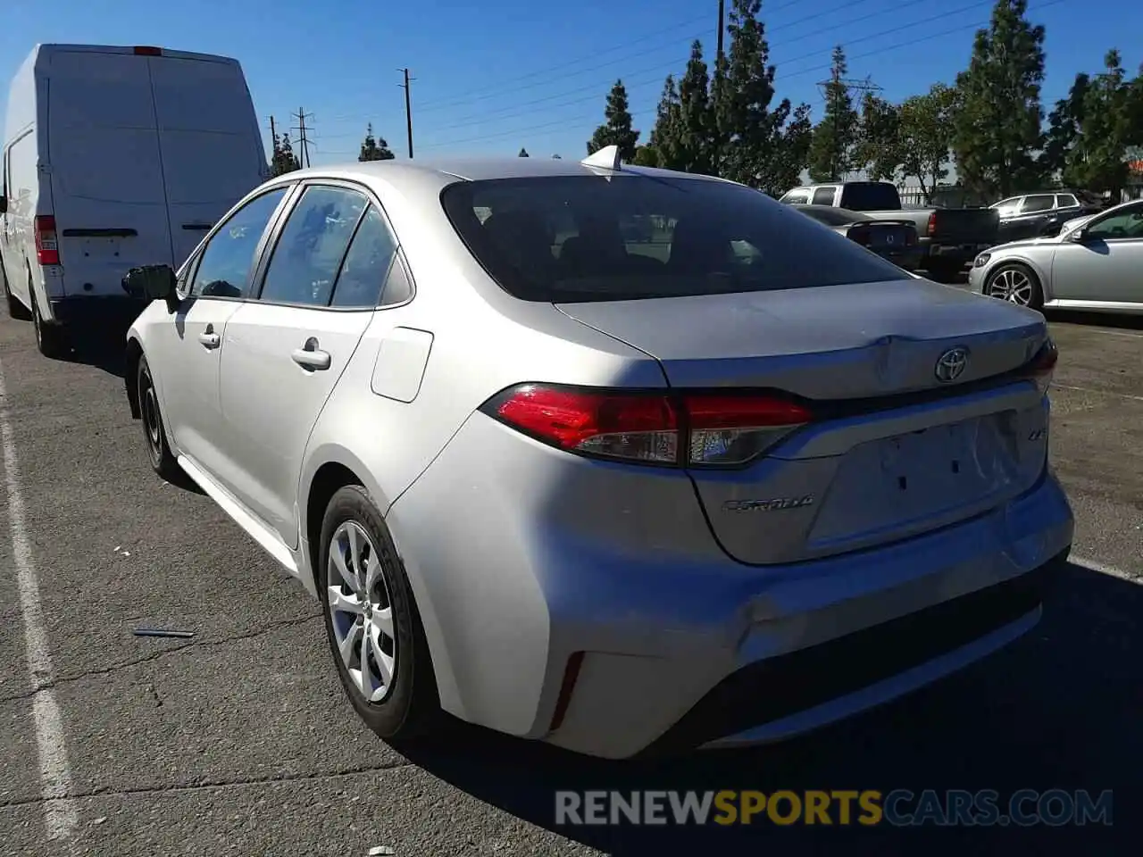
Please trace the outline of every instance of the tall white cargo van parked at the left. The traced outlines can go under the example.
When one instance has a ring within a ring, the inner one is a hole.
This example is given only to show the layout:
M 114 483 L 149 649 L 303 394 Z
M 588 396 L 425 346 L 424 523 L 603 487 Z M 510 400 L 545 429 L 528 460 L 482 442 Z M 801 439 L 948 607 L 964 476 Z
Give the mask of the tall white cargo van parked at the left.
M 58 357 L 66 326 L 133 317 L 135 265 L 177 269 L 269 176 L 238 61 L 151 47 L 38 45 L 8 97 L 0 279 Z

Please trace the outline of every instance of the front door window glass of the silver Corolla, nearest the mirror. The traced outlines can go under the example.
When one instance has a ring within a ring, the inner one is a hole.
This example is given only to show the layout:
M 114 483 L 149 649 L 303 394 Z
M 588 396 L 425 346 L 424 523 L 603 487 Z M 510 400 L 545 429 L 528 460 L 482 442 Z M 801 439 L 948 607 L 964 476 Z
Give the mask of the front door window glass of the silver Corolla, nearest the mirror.
M 195 297 L 241 297 L 254 267 L 262 233 L 286 195 L 286 187 L 263 193 L 238 209 L 207 241 L 191 282 Z

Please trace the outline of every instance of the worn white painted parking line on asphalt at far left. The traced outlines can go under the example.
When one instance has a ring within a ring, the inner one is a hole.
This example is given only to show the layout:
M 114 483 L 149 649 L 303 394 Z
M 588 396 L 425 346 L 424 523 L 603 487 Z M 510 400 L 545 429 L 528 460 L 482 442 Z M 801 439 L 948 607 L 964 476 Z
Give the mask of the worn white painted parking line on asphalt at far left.
M 0 399 L 6 395 L 3 367 L 0 366 Z M 51 689 L 51 654 L 40 606 L 40 584 L 27 540 L 24 497 L 19 489 L 16 441 L 8 421 L 8 407 L 0 403 L 0 444 L 3 446 L 3 476 L 8 494 L 8 523 L 11 555 L 16 566 L 16 587 L 24 620 L 24 652 L 32 686 L 32 721 L 40 758 L 40 788 L 43 795 L 43 823 L 49 840 L 67 839 L 79 824 L 79 811 L 71 798 L 71 767 L 64 738 L 63 716 Z

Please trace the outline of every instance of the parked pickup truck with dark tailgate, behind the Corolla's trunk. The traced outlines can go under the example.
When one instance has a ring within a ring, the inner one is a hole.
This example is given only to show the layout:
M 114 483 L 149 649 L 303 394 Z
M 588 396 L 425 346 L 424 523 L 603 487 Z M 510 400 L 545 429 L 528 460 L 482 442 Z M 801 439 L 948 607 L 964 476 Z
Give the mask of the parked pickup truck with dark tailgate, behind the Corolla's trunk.
M 794 187 L 780 202 L 832 206 L 861 211 L 871 221 L 910 221 L 920 239 L 920 267 L 952 279 L 978 253 L 998 242 L 1000 217 L 988 208 L 904 208 L 888 182 L 834 182 Z

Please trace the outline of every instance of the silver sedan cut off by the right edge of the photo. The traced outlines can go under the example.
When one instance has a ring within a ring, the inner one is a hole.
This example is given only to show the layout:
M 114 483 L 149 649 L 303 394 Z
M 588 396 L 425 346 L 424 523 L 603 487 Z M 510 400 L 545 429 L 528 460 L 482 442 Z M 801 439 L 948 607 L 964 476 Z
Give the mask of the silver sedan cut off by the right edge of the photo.
M 1054 238 L 993 247 L 968 288 L 1033 310 L 1143 312 L 1143 200 L 1076 218 Z

